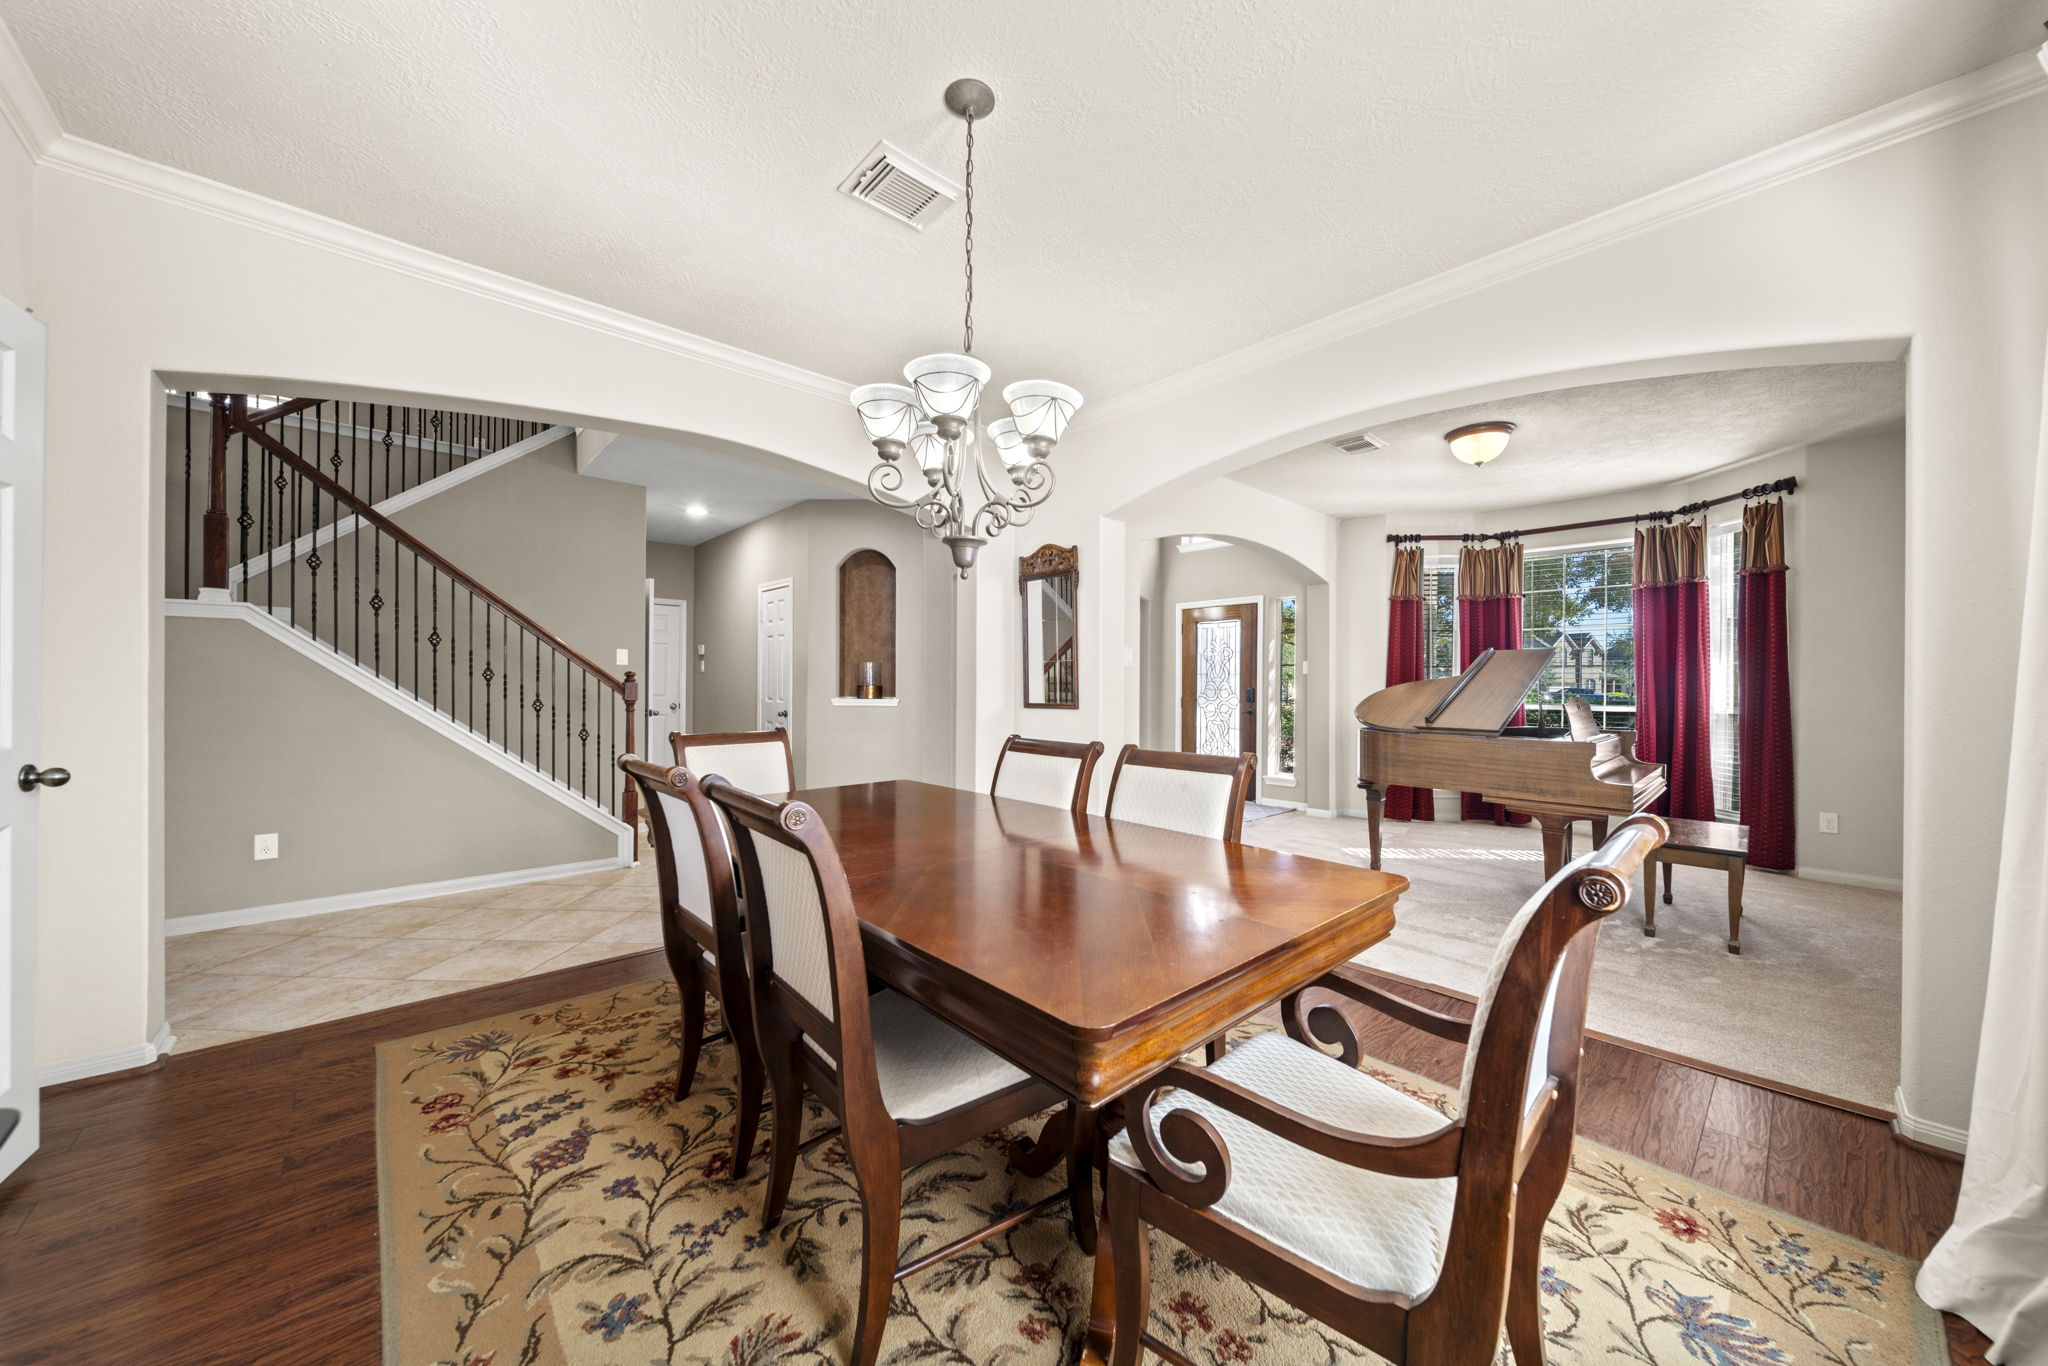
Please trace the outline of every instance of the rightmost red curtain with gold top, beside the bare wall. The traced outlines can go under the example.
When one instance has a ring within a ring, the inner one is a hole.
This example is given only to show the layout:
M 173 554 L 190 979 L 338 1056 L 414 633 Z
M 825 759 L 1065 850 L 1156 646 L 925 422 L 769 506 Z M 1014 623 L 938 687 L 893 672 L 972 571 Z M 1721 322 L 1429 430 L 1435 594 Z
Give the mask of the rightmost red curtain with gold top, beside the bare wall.
M 1749 866 L 1796 866 L 1792 811 L 1792 668 L 1786 645 L 1784 500 L 1743 508 L 1741 602 L 1735 657 L 1741 670 L 1743 825 Z

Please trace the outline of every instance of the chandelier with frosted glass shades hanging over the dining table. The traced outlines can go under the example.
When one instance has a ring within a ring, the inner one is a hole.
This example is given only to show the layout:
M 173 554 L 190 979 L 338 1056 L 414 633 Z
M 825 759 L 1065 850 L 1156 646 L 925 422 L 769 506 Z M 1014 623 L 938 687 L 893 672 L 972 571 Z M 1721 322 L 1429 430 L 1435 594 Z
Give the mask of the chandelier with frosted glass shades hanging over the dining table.
M 903 367 L 907 385 L 860 385 L 854 410 L 881 463 L 868 494 L 918 520 L 952 551 L 961 578 L 975 553 L 1010 526 L 1024 526 L 1053 496 L 1053 446 L 1081 405 L 1077 389 L 1051 379 L 1004 385 L 1008 418 L 981 424 L 981 389 L 991 371 L 975 350 L 975 121 L 995 111 L 995 92 L 979 80 L 946 86 L 946 109 L 967 121 L 967 313 L 958 352 L 918 356 Z M 993 453 L 991 453 L 993 449 Z M 924 473 L 924 494 L 903 492 L 905 459 Z

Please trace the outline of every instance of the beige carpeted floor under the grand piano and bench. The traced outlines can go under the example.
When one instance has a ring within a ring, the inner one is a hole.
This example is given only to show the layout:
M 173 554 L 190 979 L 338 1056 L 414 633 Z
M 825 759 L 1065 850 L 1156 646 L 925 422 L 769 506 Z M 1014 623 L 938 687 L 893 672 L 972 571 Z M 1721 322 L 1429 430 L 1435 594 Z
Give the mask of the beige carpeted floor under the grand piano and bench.
M 1579 827 L 1579 850 L 1585 827 Z M 1245 844 L 1366 864 L 1362 819 L 1298 811 L 1245 825 Z M 1389 872 L 1411 887 L 1366 967 L 1477 993 L 1501 928 L 1542 881 L 1534 827 L 1386 821 Z M 1898 1085 L 1898 893 L 1751 872 L 1743 952 L 1726 879 L 1677 868 L 1657 938 L 1630 901 L 1602 930 L 1587 1026 L 1739 1073 L 1890 1112 Z

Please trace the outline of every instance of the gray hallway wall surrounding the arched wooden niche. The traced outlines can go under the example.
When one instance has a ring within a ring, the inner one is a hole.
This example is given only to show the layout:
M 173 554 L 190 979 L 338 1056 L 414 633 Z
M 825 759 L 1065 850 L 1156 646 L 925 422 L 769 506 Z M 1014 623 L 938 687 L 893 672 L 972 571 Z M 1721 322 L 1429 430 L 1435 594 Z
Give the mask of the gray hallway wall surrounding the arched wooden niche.
M 860 549 L 881 551 L 897 569 L 895 707 L 831 705 L 840 563 Z M 756 600 L 762 584 L 791 580 L 799 784 L 952 782 L 958 580 L 950 565 L 946 549 L 909 518 L 866 502 L 803 502 L 698 545 L 690 635 L 705 645 L 705 668 L 690 676 L 694 727 L 756 727 Z

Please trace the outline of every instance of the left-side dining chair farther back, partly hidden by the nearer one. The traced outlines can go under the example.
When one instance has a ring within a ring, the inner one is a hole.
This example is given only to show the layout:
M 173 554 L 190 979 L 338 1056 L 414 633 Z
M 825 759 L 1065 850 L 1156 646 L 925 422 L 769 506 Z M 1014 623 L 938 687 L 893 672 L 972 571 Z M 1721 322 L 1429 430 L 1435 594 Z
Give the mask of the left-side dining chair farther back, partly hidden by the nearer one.
M 719 1014 L 725 1016 L 739 1067 L 739 1124 L 733 1130 L 737 1180 L 748 1173 L 748 1159 L 754 1155 L 766 1073 L 754 1038 L 754 991 L 748 985 L 731 844 L 725 823 L 688 768 L 659 768 L 631 754 L 621 756 L 618 768 L 639 784 L 641 807 L 647 811 L 662 897 L 662 952 L 682 991 L 676 1100 L 684 1100 L 696 1083 L 696 1059 L 705 1042 L 717 1042 L 717 1036 L 705 1038 L 705 991 L 711 991 L 719 997 Z

